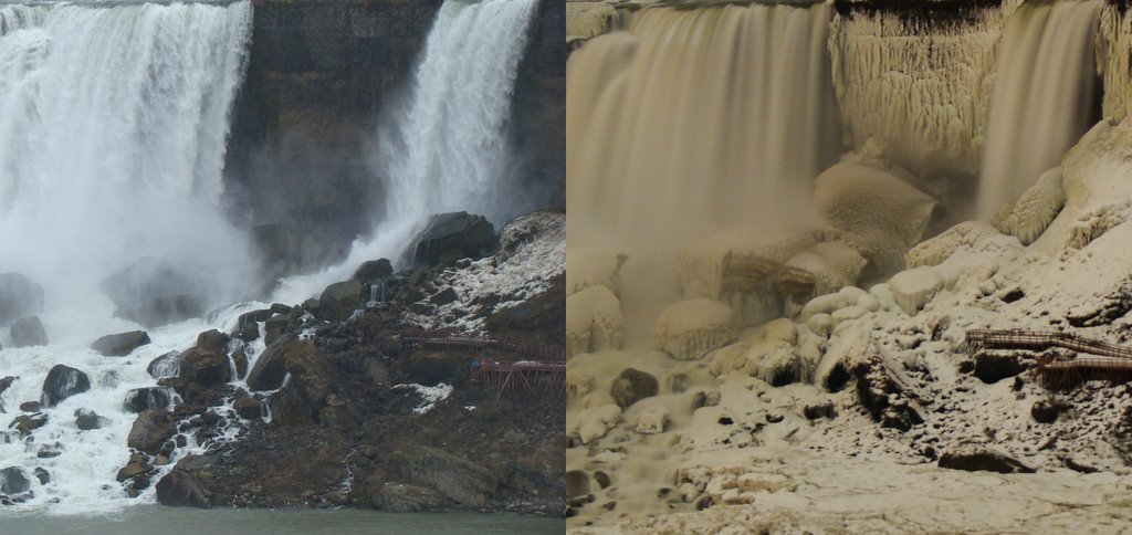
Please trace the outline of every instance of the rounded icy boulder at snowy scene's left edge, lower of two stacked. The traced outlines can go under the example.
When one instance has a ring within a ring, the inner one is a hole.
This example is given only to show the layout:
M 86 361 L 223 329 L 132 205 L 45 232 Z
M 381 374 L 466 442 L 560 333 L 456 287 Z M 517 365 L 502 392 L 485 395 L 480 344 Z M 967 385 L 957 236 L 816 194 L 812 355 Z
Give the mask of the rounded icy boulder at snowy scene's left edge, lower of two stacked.
M 566 354 L 621 346 L 621 303 L 606 286 L 592 286 L 566 297 Z

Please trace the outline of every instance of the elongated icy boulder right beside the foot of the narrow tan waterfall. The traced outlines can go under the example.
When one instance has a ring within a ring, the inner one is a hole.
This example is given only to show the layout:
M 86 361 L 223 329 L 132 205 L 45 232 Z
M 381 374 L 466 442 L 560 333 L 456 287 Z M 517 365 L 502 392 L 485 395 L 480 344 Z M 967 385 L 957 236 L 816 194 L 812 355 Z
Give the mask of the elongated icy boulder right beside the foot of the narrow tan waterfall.
M 1046 232 L 1046 227 L 1064 206 L 1062 169 L 1054 167 L 1041 173 L 1038 182 L 1027 189 L 1022 197 L 1004 206 L 995 216 L 994 226 L 1004 234 L 1018 238 L 1023 245 L 1029 245 Z

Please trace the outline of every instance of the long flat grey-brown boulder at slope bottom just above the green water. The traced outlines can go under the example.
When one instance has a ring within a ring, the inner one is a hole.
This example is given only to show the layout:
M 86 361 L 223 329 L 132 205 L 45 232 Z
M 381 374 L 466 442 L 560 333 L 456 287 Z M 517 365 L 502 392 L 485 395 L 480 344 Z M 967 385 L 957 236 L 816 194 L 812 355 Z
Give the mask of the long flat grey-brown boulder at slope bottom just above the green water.
M 499 480 L 490 469 L 437 448 L 400 449 L 391 460 L 402 477 L 436 489 L 465 507 L 486 506 L 499 487 Z

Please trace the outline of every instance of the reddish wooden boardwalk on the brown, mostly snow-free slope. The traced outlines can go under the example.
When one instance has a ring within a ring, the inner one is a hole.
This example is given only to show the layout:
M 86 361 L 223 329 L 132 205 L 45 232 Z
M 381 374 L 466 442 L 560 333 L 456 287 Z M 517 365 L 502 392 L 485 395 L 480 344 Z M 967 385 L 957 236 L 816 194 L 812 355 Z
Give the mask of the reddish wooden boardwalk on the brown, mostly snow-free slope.
M 421 347 L 455 348 L 466 353 L 491 352 L 472 361 L 472 380 L 504 394 L 565 396 L 566 348 L 507 337 L 466 335 L 452 329 L 404 329 L 401 339 Z

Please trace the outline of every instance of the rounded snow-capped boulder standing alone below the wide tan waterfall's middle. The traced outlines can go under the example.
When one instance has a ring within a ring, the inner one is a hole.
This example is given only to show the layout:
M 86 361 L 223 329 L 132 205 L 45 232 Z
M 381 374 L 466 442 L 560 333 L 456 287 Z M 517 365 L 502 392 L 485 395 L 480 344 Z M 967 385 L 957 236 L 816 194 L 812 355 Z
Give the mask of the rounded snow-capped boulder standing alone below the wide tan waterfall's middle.
M 736 338 L 731 308 L 707 299 L 680 301 L 664 309 L 657 321 L 657 348 L 678 361 L 697 360 Z

